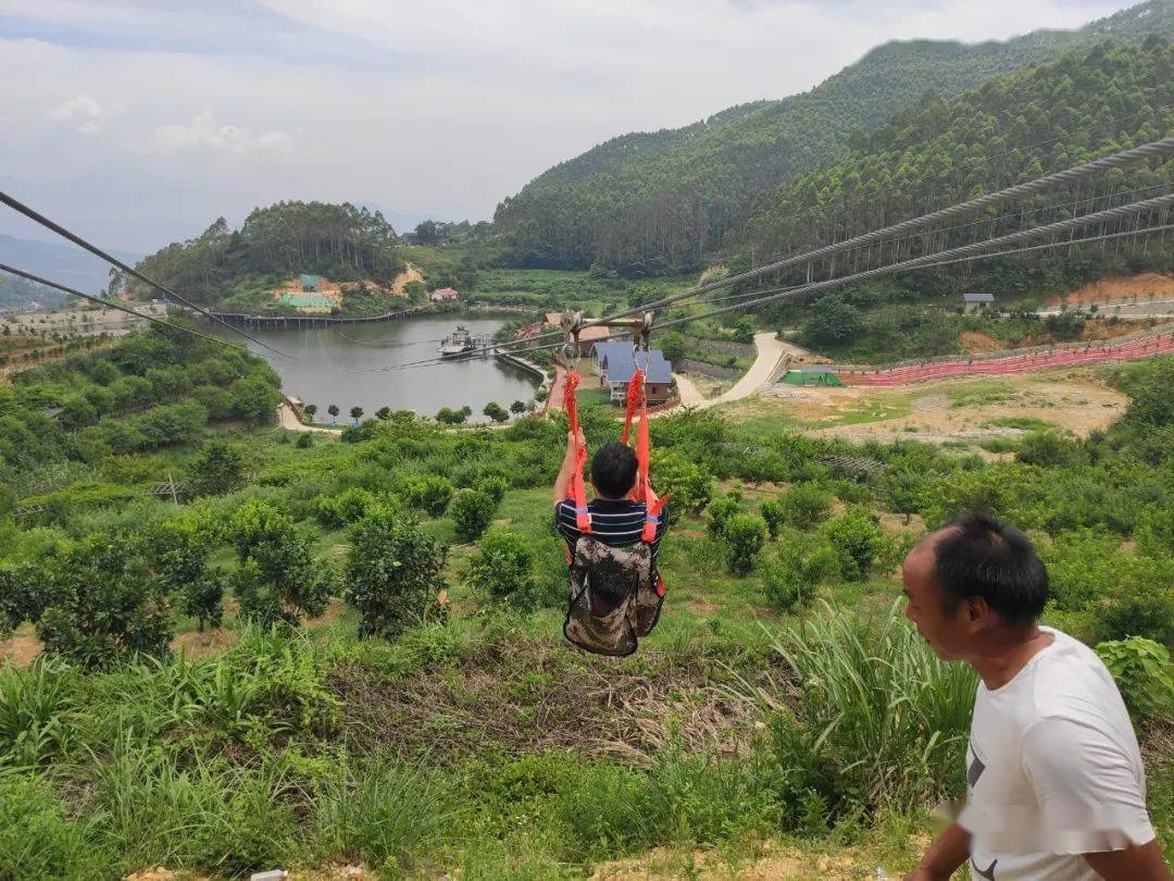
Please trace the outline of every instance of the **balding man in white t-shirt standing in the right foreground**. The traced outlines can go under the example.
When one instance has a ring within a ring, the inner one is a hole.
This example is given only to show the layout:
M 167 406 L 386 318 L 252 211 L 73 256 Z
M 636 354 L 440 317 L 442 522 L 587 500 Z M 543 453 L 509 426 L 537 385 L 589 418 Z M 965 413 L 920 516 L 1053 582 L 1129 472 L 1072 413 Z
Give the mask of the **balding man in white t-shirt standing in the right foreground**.
M 933 652 L 981 680 L 966 806 L 909 881 L 1170 881 L 1121 695 L 1082 643 L 1037 624 L 1047 571 L 1023 532 L 966 515 L 902 569 L 906 614 Z

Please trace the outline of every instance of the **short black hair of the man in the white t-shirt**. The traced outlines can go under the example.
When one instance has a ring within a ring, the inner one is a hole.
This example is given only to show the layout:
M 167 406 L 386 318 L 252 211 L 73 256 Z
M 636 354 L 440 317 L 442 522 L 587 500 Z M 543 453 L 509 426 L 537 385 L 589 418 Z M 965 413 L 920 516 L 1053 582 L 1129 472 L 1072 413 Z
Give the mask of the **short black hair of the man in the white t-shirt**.
M 1027 536 L 981 513 L 963 515 L 944 532 L 935 546 L 933 580 L 946 593 L 947 611 L 981 597 L 1004 624 L 1039 617 L 1047 603 L 1047 570 Z

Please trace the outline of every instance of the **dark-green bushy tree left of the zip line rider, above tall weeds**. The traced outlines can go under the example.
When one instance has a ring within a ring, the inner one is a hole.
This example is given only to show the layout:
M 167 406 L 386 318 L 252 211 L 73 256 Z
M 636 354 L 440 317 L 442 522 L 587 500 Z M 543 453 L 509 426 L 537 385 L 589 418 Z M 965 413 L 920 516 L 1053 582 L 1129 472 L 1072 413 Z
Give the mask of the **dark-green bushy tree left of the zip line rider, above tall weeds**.
M 343 590 L 359 635 L 394 637 L 441 612 L 445 550 L 410 517 L 375 509 L 351 530 Z

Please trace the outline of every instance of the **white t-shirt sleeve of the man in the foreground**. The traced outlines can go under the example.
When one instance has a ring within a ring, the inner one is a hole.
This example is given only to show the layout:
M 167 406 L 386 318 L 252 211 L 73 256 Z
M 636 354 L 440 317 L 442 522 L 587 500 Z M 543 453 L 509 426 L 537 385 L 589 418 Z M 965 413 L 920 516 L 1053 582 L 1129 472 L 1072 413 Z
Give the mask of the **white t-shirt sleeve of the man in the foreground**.
M 1024 735 L 1023 762 L 1052 853 L 1121 850 L 1154 839 L 1143 780 L 1104 732 L 1073 719 L 1043 719 Z

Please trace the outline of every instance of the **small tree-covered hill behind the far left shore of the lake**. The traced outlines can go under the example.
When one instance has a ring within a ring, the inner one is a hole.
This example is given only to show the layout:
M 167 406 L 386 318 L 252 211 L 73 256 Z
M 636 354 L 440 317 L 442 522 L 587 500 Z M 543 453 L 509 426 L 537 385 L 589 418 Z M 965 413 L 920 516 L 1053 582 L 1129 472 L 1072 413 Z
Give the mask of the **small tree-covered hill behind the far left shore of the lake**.
M 229 229 L 220 217 L 200 237 L 146 257 L 139 269 L 201 302 L 216 303 L 257 276 L 271 281 L 317 273 L 335 281 L 390 280 L 399 270 L 394 240 L 396 231 L 379 211 L 350 203 L 278 202 L 255 208 L 239 229 Z

